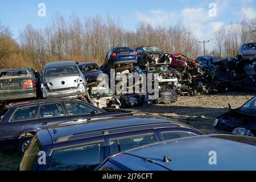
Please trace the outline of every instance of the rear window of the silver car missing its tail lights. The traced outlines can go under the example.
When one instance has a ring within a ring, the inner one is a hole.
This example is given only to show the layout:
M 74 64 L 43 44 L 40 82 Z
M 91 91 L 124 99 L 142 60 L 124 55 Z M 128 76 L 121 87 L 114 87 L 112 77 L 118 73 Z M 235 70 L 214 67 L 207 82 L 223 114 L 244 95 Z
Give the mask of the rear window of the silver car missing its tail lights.
M 67 76 L 79 74 L 76 66 L 47 68 L 44 77 Z

